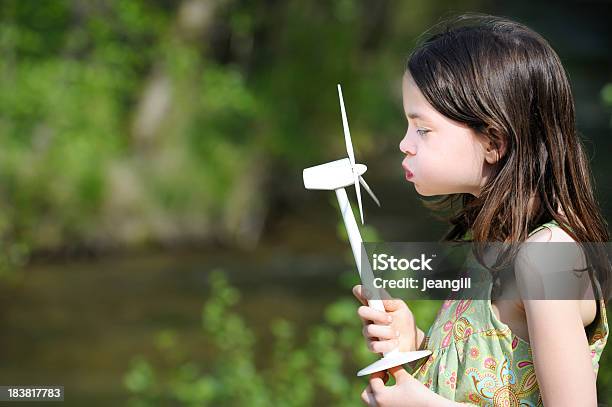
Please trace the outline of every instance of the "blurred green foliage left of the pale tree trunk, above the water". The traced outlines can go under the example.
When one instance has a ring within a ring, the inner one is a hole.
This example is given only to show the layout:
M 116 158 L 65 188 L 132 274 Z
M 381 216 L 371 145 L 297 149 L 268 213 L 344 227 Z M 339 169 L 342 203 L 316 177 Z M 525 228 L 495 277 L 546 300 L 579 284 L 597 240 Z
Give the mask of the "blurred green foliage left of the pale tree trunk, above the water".
M 0 237 L 4 251 L 21 248 L 13 264 L 30 249 L 84 244 L 98 226 L 107 170 L 126 151 L 129 106 L 152 60 L 146 44 L 166 20 L 138 2 L 116 3 L 112 23 L 76 6 L 1 6 Z

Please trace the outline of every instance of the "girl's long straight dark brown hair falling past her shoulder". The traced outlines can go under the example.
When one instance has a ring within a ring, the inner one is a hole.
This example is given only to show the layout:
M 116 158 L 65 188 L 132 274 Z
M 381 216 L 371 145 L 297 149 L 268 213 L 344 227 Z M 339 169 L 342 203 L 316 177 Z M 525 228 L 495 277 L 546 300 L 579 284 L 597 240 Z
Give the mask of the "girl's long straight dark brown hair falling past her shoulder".
M 425 202 L 450 210 L 443 240 L 469 232 L 475 242 L 523 242 L 556 220 L 576 242 L 608 242 L 570 83 L 548 42 L 520 23 L 481 14 L 455 17 L 434 31 L 411 53 L 407 73 L 438 112 L 507 146 L 478 197 Z M 607 299 L 610 268 L 595 269 Z

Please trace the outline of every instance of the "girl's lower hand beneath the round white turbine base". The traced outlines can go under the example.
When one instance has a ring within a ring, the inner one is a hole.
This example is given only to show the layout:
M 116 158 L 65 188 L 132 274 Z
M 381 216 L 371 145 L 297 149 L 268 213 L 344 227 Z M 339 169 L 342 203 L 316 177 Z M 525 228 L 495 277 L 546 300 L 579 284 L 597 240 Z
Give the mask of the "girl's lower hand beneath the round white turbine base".
M 389 369 L 395 378 L 393 386 L 386 386 L 389 380 L 387 372 L 376 372 L 370 375 L 370 383 L 361 393 L 361 401 L 367 406 L 375 407 L 421 407 L 452 405 L 425 385 L 412 377 L 403 367 Z

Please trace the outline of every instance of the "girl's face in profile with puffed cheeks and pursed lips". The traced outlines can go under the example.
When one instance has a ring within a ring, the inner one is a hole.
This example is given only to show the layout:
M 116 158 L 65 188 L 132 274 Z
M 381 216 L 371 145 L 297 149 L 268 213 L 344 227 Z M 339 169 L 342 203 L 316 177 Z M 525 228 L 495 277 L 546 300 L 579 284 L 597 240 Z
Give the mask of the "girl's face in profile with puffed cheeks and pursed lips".
M 478 196 L 489 174 L 486 141 L 465 124 L 436 111 L 409 74 L 402 82 L 408 130 L 399 147 L 406 155 L 402 161 L 406 179 L 423 196 Z

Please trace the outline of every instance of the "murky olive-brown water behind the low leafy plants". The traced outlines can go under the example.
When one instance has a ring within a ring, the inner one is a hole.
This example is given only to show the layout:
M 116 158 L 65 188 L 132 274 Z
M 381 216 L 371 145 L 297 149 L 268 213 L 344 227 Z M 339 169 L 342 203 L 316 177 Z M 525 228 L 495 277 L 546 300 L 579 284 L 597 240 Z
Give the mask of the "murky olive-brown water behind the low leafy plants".
M 242 294 L 238 312 L 267 335 L 272 318 L 302 329 L 321 321 L 326 304 L 350 295 L 337 283 L 345 264 L 332 253 L 275 249 L 32 265 L 17 283 L 0 285 L 0 383 L 63 385 L 65 405 L 124 404 L 123 375 L 135 355 L 155 362 L 159 331 L 174 330 L 193 360 L 215 357 L 202 346 L 201 327 L 212 270 L 226 272 Z

